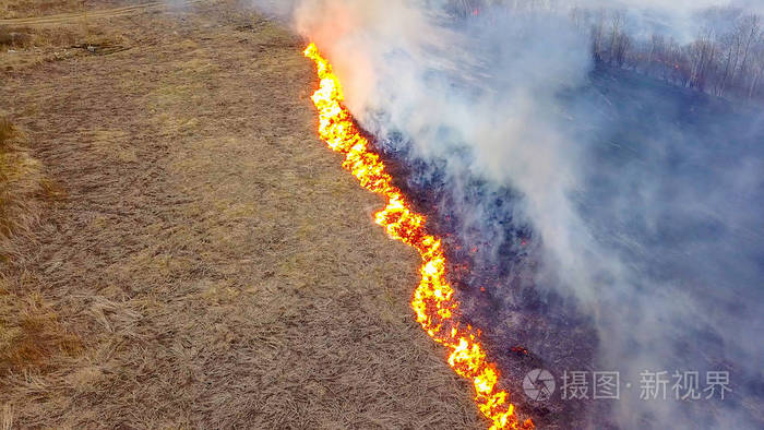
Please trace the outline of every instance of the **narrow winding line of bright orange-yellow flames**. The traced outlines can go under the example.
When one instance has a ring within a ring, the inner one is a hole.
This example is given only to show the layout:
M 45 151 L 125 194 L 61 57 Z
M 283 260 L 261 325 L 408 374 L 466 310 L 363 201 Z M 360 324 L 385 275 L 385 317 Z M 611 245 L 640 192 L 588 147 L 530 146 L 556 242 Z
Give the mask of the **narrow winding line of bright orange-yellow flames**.
M 450 350 L 449 365 L 454 371 L 473 382 L 475 402 L 491 421 L 491 429 L 533 429 L 530 419 L 518 420 L 509 394 L 497 387 L 499 371 L 486 358 L 480 332 L 456 320 L 459 303 L 445 278 L 441 240 L 427 234 L 426 217 L 411 210 L 401 190 L 393 186 L 380 156 L 356 128 L 350 112 L 342 105 L 342 85 L 329 61 L 314 44 L 303 53 L 315 62 L 321 80 L 311 97 L 319 111 L 319 135 L 333 151 L 345 154 L 343 167 L 358 178 L 361 187 L 386 199 L 385 207 L 375 214 L 377 224 L 391 238 L 414 247 L 421 256 L 421 280 L 411 298 L 417 321 L 430 337 Z

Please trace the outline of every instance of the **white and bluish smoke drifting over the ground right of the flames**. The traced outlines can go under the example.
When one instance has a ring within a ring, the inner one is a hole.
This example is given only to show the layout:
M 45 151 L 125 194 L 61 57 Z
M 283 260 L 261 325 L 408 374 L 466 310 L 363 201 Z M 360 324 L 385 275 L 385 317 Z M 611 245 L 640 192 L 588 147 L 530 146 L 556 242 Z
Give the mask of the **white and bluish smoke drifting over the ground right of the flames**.
M 435 203 L 458 219 L 459 240 L 484 248 L 478 266 L 515 270 L 491 296 L 494 312 L 523 308 L 514 287 L 517 272 L 529 271 L 547 316 L 573 307 L 590 319 L 588 365 L 634 385 L 593 427 L 760 427 L 761 110 L 595 70 L 587 37 L 566 17 L 573 2 L 481 9 L 468 22 L 449 15 L 454 2 L 437 0 L 254 3 L 331 59 L 359 122 L 419 166 L 410 186 L 440 188 Z M 616 3 L 636 22 L 660 16 L 685 35 L 696 12 L 714 5 Z M 523 265 L 516 239 L 526 226 L 537 247 Z M 524 341 L 564 361 L 565 351 Z M 644 401 L 644 370 L 700 371 L 701 384 L 706 370 L 729 371 L 732 393 Z

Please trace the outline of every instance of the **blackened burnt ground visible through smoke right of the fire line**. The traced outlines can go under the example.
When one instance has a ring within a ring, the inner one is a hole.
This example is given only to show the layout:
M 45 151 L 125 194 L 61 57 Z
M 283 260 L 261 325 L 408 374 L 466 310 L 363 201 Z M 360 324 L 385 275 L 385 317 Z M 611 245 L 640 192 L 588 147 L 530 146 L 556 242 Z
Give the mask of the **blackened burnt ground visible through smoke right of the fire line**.
M 693 332 L 671 333 L 658 342 L 669 351 L 655 350 L 656 357 L 676 369 L 724 369 L 738 375 L 725 402 L 685 403 L 675 409 L 677 419 L 713 421 L 723 410 L 732 409 L 742 428 L 763 422 L 761 409 L 754 406 L 764 396 L 762 378 L 745 361 L 752 353 L 733 346 L 737 341 L 730 339 L 725 325 L 729 321 L 721 323 L 727 316 L 719 313 L 731 312 L 739 327 L 750 327 L 742 329 L 745 332 L 757 330 L 745 319 L 760 302 L 764 228 L 759 217 L 745 213 L 764 208 L 764 189 L 756 179 L 751 179 L 752 187 L 736 187 L 727 174 L 741 163 L 761 166 L 764 117 L 755 105 L 606 65 L 592 70 L 584 85 L 558 97 L 563 107 L 560 119 L 570 135 L 592 142 L 586 184 L 574 195 L 587 225 L 612 252 L 622 253 L 641 271 L 636 295 L 652 297 L 655 308 L 671 308 L 664 300 L 687 297 L 675 304 L 697 312 L 700 322 Z M 596 112 L 596 121 L 590 112 Z M 384 115 L 371 123 L 380 127 Z M 378 151 L 396 183 L 429 215 L 431 229 L 445 238 L 450 279 L 463 301 L 463 319 L 488 327 L 484 338 L 511 392 L 524 392 L 523 378 L 533 369 L 549 370 L 558 383 L 571 369 L 619 369 L 604 359 L 602 351 L 609 348 L 604 337 L 613 333 L 598 329 L 602 322 L 597 320 L 605 319 L 600 307 L 610 307 L 619 313 L 618 320 L 638 325 L 645 321 L 638 314 L 645 309 L 629 300 L 643 299 L 613 291 L 593 312 L 574 294 L 544 285 L 538 276 L 544 239 L 523 215 L 526 195 L 512 187 L 497 187 L 469 169 L 449 171 L 453 169 L 450 157 L 471 157 L 468 144 L 454 145 L 455 155 L 433 160 L 420 157 L 416 142 L 404 132 L 385 130 L 382 135 Z M 745 170 L 738 174 L 756 177 Z M 655 194 L 645 199 L 645 191 Z M 625 201 L 626 206 L 614 210 L 616 201 Z M 656 207 L 645 207 L 646 203 Z M 624 215 L 623 210 L 629 213 Z M 656 288 L 661 291 L 656 294 Z M 740 303 L 740 297 L 753 301 Z M 670 318 L 643 323 L 656 331 L 671 324 Z M 616 335 L 628 337 L 623 330 Z M 629 347 L 641 354 L 638 342 Z M 515 401 L 540 428 L 620 428 L 612 418 L 614 402 L 571 402 L 560 391 L 545 402 L 523 395 Z M 647 428 L 665 422 L 650 416 L 636 419 Z

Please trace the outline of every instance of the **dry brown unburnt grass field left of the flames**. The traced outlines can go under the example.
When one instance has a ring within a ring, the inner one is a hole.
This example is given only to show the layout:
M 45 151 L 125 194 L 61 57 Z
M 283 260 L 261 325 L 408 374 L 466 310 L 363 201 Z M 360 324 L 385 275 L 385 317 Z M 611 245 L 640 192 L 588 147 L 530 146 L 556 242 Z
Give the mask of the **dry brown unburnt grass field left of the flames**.
M 0 428 L 481 428 L 315 136 L 305 40 L 81 8 L 0 8 L 68 14 L 0 24 Z

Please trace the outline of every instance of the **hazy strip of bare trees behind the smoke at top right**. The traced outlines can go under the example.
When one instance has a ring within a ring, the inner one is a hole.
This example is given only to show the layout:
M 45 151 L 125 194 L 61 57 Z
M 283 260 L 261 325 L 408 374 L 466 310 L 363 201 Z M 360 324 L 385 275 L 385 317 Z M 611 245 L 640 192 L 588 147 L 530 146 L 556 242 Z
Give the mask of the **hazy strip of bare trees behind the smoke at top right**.
M 679 41 L 673 28 L 645 32 L 623 9 L 587 9 L 540 0 L 447 0 L 463 17 L 513 10 L 566 14 L 589 36 L 597 63 L 633 70 L 676 85 L 732 99 L 764 99 L 764 22 L 733 7 L 714 7 L 693 15 L 694 39 Z M 635 31 L 635 28 L 640 27 Z M 656 25 L 657 27 L 657 25 Z M 638 34 L 635 34 L 638 33 Z

